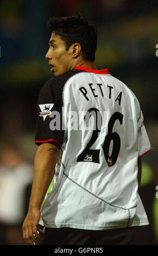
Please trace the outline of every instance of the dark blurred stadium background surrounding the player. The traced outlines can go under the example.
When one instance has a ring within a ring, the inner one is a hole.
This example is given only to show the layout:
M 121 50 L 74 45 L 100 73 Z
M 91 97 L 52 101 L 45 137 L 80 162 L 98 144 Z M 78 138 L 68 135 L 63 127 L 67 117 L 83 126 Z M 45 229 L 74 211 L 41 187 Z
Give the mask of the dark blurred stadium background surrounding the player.
M 154 149 L 142 158 L 140 196 L 150 225 L 136 230 L 136 245 L 158 245 L 158 1 L 154 0 L 1 0 L 0 245 L 24 245 L 21 225 L 37 149 L 37 96 L 52 77 L 45 59 L 47 21 L 78 11 L 98 27 L 97 68 L 108 68 L 141 103 Z

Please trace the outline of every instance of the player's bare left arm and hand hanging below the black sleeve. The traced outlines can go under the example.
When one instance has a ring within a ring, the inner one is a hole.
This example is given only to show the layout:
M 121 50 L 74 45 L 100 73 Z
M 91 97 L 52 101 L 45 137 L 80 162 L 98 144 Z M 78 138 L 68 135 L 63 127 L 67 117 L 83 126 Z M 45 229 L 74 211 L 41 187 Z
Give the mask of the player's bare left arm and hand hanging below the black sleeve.
M 37 149 L 29 210 L 22 226 L 23 239 L 28 245 L 39 243 L 37 224 L 41 216 L 40 208 L 53 179 L 58 155 L 59 147 L 54 144 L 43 143 Z

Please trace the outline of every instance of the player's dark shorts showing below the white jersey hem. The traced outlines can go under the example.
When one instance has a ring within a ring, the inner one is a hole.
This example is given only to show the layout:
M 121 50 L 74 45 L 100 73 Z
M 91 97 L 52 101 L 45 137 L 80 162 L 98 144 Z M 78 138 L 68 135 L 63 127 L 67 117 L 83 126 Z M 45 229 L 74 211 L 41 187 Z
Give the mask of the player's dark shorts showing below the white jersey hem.
M 134 245 L 135 227 L 85 230 L 38 225 L 40 245 Z

